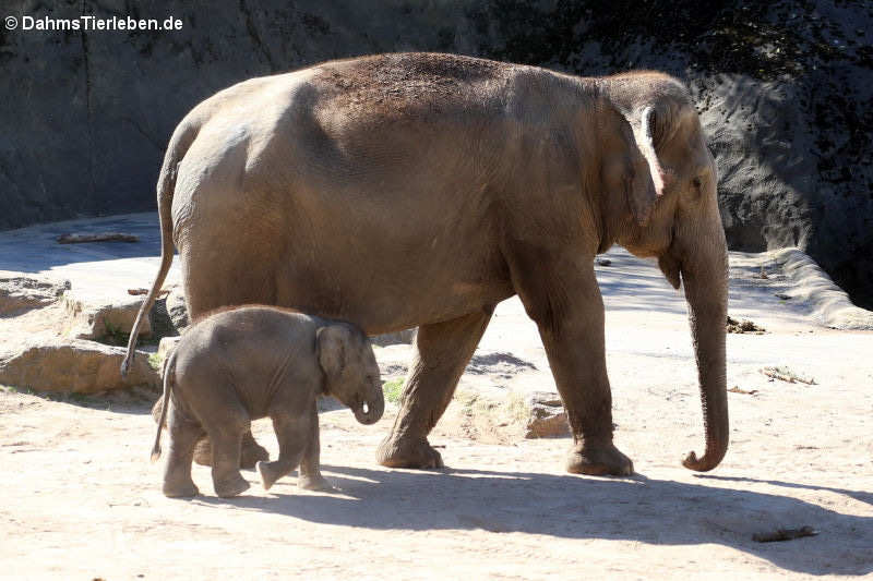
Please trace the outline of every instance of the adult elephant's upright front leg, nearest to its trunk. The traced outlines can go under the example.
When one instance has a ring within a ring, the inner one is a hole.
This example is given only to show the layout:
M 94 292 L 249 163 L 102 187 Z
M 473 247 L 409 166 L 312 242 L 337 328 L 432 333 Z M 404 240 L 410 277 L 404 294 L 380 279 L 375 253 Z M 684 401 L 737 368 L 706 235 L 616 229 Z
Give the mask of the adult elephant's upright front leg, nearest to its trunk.
M 537 267 L 516 273 L 514 283 L 539 327 L 573 432 L 566 470 L 577 474 L 632 474 L 633 463 L 612 444 L 603 301 L 594 266 L 574 257 L 540 261 Z

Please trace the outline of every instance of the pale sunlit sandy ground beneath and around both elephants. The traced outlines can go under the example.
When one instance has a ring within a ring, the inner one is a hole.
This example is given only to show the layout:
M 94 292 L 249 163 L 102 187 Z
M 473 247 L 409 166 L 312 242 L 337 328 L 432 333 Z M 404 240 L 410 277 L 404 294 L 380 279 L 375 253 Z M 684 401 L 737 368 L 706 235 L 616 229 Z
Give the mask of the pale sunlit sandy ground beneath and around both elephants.
M 154 221 L 112 220 L 112 229 L 124 231 Z M 130 253 L 120 257 L 113 247 L 63 250 L 82 254 L 57 257 L 36 244 L 53 232 L 40 228 L 0 233 L 0 269 L 48 273 L 95 289 L 145 287 L 156 269 L 156 239 L 118 251 Z M 12 252 L 25 241 L 29 256 Z M 872 574 L 873 332 L 816 326 L 809 305 L 776 296 L 791 295 L 792 282 L 770 256 L 733 253 L 730 314 L 768 332 L 728 336 L 728 386 L 738 389 L 729 394 L 731 448 L 715 471 L 694 474 L 680 465 L 687 451 L 703 449 L 681 293 L 649 263 L 621 250 L 607 257 L 611 265 L 599 266 L 598 276 L 615 441 L 635 462 L 633 477 L 565 474 L 569 438 L 526 440 L 512 422 L 470 423 L 470 412 L 481 413 L 469 406 L 470 394 L 512 402 L 554 390 L 536 328 L 510 300 L 498 307 L 458 401 L 431 436 L 449 468 L 375 464 L 393 404 L 373 426 L 357 424 L 347 410 L 325 411 L 322 463 L 339 488 L 333 494 L 300 492 L 292 476 L 265 493 L 256 474 L 244 472 L 252 488 L 223 500 L 208 469 L 195 467 L 204 494 L 167 499 L 160 464 L 148 462 L 152 394 L 48 399 L 0 391 L 0 577 Z M 766 280 L 754 278 L 762 265 Z M 0 319 L 0 342 L 37 332 L 31 316 L 31 327 Z M 376 351 L 383 378 L 402 376 L 409 347 Z M 767 366 L 815 383 L 770 380 L 761 372 Z M 501 416 L 500 409 L 489 413 Z M 268 422 L 254 431 L 275 453 Z M 804 525 L 818 534 L 752 540 Z

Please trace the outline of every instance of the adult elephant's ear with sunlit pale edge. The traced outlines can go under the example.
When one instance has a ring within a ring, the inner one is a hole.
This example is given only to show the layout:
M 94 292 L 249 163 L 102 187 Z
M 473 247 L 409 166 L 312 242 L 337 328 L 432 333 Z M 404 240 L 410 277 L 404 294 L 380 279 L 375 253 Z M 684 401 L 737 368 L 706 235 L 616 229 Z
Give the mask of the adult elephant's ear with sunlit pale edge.
M 651 106 L 642 112 L 634 111 L 625 120 L 631 125 L 633 143 L 630 168 L 625 170 L 624 194 L 636 223 L 646 226 L 655 203 L 663 195 L 667 181 L 667 173 L 655 152 L 656 140 L 662 140 L 667 133 L 667 120 L 663 112 Z

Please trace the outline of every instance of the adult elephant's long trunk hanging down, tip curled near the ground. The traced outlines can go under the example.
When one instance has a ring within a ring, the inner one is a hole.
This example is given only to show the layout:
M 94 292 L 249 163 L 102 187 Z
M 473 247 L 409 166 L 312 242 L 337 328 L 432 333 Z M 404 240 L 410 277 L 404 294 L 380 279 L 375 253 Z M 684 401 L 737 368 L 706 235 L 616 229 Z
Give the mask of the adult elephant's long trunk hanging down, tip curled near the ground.
M 682 274 L 706 428 L 703 457 L 697 458 L 692 451 L 682 464 L 706 472 L 725 458 L 730 439 L 725 364 L 728 252 L 720 220 L 708 229 L 677 232 L 673 246 L 659 263 L 667 278 L 677 287 L 679 273 Z

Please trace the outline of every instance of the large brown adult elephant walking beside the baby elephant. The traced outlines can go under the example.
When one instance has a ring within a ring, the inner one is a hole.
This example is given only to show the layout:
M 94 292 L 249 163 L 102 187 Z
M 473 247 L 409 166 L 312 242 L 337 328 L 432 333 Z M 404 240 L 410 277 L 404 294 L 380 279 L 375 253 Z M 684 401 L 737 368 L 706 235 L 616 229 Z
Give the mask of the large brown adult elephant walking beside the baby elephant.
M 538 327 L 574 444 L 566 468 L 630 474 L 612 441 L 594 257 L 657 256 L 687 299 L 715 468 L 728 447 L 727 250 L 716 169 L 687 90 L 433 53 L 332 61 L 196 106 L 157 185 L 160 270 L 179 250 L 193 316 L 243 303 L 418 326 L 388 467 L 442 465 L 427 436 L 500 301 Z M 131 334 L 128 360 L 136 329 Z

